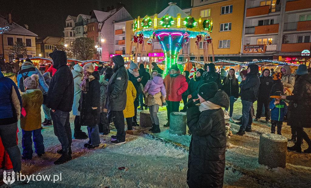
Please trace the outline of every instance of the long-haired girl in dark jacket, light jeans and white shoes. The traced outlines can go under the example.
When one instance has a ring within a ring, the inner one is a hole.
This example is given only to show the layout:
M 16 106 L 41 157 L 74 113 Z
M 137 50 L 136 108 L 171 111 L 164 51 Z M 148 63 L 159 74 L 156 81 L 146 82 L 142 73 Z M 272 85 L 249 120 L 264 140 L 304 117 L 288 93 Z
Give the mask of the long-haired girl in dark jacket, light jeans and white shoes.
M 229 121 L 234 122 L 234 120 L 232 119 L 233 104 L 239 98 L 239 81 L 235 77 L 235 70 L 234 69 L 229 70 L 228 75 L 222 80 L 222 84 L 223 85 L 221 86 L 221 90 L 225 91 L 227 93 L 227 95 L 229 96 L 229 99 L 230 99 L 230 112 L 229 112 L 230 119 L 229 119 Z M 225 110 L 228 111 L 228 109 L 229 108 L 226 108 Z

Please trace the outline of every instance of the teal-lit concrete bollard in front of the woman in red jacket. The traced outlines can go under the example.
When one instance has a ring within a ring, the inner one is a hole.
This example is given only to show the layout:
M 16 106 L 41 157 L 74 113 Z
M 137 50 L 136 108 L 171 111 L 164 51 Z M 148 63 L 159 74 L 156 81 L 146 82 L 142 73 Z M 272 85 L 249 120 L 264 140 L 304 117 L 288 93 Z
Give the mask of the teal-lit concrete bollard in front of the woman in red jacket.
M 169 114 L 169 133 L 185 135 L 187 127 L 187 114 L 183 112 L 172 112 Z

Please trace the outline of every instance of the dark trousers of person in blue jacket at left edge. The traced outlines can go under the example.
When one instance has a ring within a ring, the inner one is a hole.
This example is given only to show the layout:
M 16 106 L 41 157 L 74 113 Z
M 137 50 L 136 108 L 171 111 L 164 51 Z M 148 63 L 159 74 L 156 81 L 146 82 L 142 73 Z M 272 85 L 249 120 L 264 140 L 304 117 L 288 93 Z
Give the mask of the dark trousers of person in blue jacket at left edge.
M 1 141 L 4 149 L 7 150 L 7 154 L 12 161 L 14 172 L 21 170 L 21 151 L 16 143 L 16 131 L 17 122 L 0 126 Z

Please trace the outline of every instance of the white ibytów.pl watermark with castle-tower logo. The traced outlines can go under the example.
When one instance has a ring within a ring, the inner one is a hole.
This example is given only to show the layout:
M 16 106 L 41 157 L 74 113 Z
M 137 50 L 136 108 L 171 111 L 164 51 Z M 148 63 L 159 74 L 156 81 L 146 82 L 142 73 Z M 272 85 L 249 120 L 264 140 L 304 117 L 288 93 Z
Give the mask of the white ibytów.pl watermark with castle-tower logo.
M 31 175 L 22 175 L 21 173 L 15 174 L 14 171 L 12 172 L 3 172 L 3 182 L 7 185 L 11 185 L 15 181 L 53 181 L 53 183 L 57 181 L 62 181 L 62 173 L 59 175 L 42 175 L 40 172 L 38 175 L 31 174 Z

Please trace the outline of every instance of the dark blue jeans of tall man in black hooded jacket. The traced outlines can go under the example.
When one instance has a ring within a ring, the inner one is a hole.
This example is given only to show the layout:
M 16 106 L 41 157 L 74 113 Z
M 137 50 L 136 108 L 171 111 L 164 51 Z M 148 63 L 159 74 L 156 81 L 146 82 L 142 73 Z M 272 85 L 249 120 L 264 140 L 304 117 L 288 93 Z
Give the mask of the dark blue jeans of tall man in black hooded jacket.
M 68 153 L 72 142 L 72 134 L 69 123 L 69 112 L 55 110 L 51 116 L 53 121 L 54 134 L 62 145 L 63 152 Z

